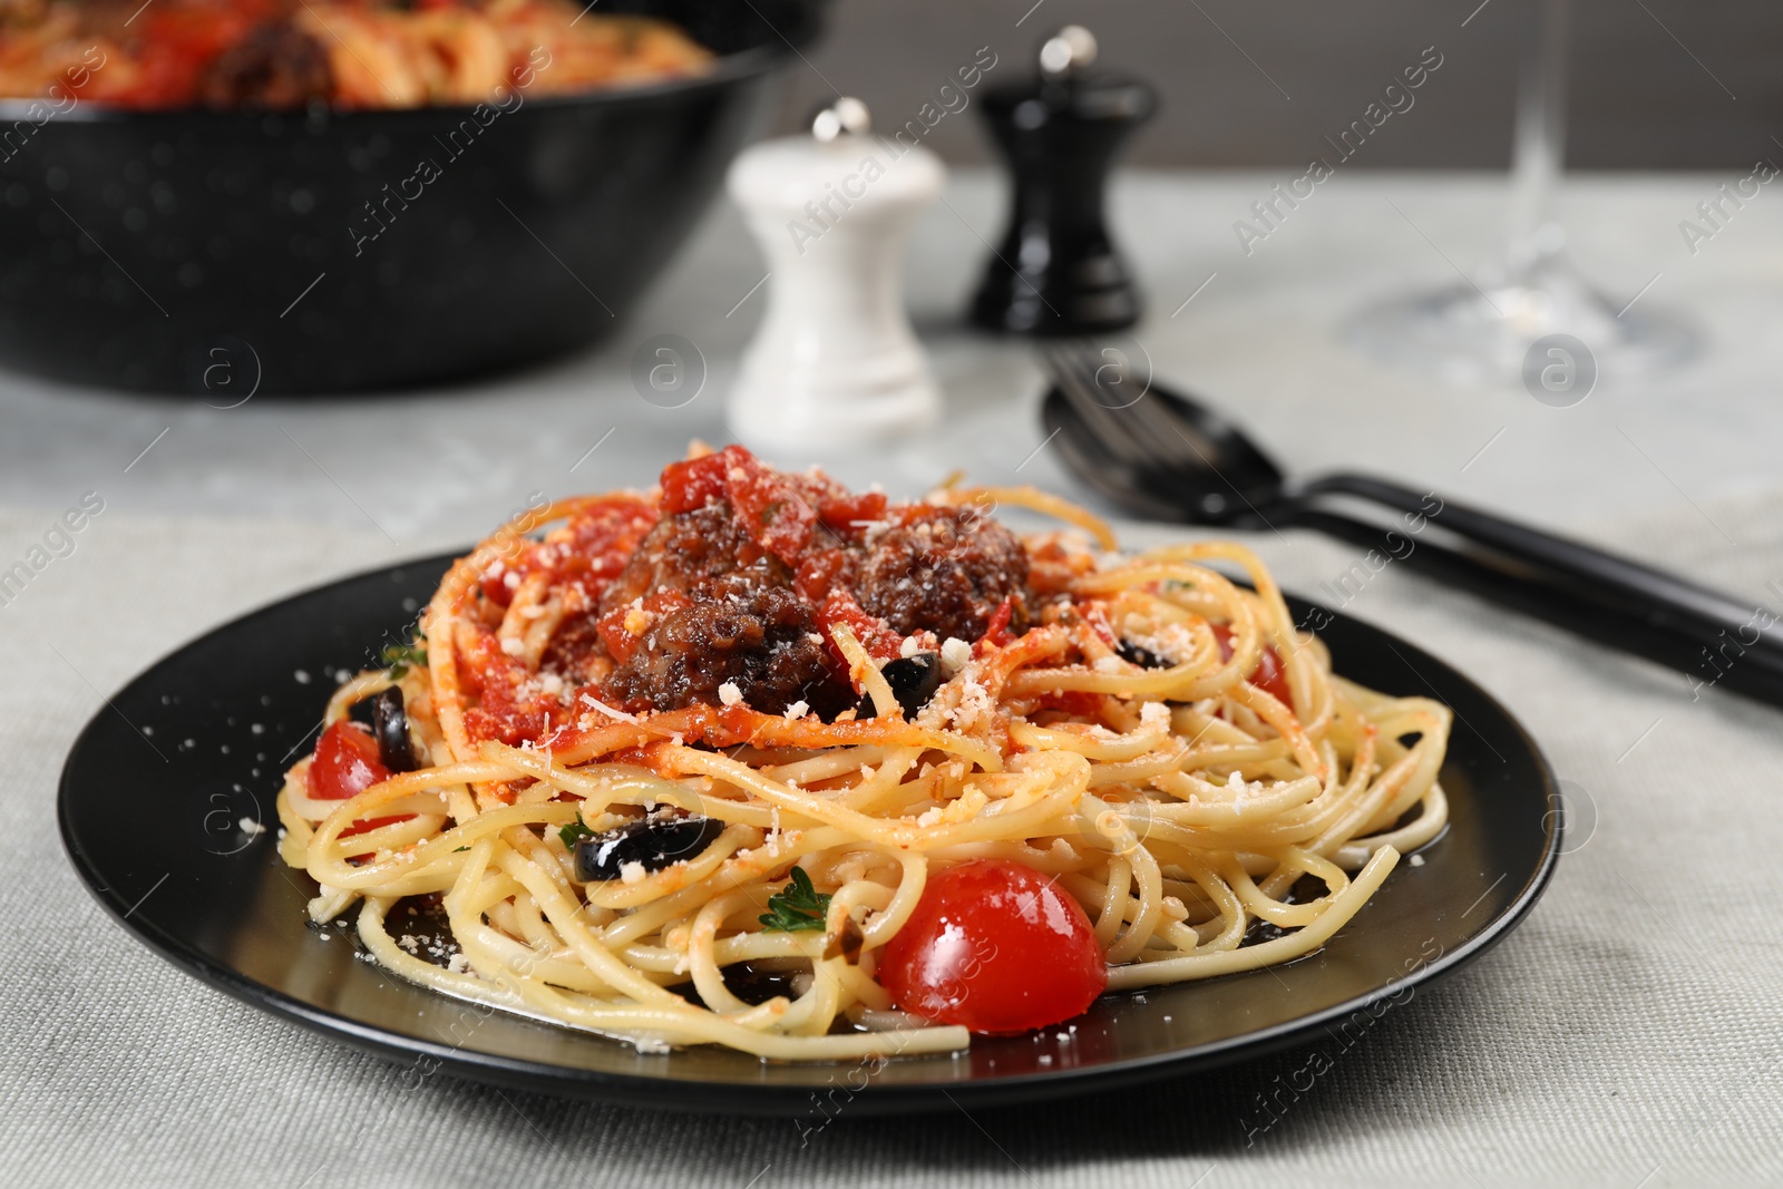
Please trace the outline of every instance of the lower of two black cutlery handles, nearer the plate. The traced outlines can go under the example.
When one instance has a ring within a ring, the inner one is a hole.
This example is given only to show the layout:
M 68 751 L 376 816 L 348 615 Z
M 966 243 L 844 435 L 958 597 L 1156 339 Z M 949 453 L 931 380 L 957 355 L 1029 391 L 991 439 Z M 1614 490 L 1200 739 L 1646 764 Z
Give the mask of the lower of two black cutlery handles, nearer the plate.
M 1526 567 L 1501 556 L 1462 553 L 1434 540 L 1407 538 L 1403 528 L 1382 528 L 1316 508 L 1293 512 L 1287 524 L 1311 528 L 1364 549 L 1378 549 L 1382 556 L 1396 558 L 1405 567 L 1428 574 L 1444 585 L 1523 611 L 1532 619 L 1546 620 L 1606 647 L 1676 668 L 1685 674 L 1692 701 L 1708 688 L 1724 688 L 1771 706 L 1783 706 L 1783 658 L 1774 652 L 1733 647 L 1719 651 L 1713 660 L 1708 660 L 1703 656 L 1701 642 L 1690 635 L 1655 624 L 1642 615 L 1580 597 L 1569 583 L 1555 581 L 1539 572 L 1532 574 Z M 1407 540 L 1412 540 L 1410 549 L 1405 545 Z M 1328 588 L 1323 594 L 1339 597 L 1323 603 L 1314 599 L 1316 606 L 1339 611 L 1359 592 Z M 1319 624 L 1314 620 L 1302 624 L 1302 627 L 1316 633 Z

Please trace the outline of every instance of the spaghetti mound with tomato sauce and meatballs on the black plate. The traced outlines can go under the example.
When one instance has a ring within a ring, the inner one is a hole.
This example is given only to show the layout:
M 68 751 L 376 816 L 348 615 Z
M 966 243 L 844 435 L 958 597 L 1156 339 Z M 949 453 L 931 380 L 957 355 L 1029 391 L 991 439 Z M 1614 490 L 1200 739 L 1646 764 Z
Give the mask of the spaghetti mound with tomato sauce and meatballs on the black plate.
M 968 1045 L 886 975 L 975 861 L 1079 906 L 1113 991 L 1323 947 L 1442 829 L 1450 711 L 1332 674 L 1241 545 L 1011 554 L 1011 503 L 1113 542 L 1056 497 L 890 504 L 740 447 L 505 528 L 287 774 L 312 918 L 358 904 L 369 954 L 449 995 L 799 1061 Z M 392 936 L 412 897 L 448 966 Z

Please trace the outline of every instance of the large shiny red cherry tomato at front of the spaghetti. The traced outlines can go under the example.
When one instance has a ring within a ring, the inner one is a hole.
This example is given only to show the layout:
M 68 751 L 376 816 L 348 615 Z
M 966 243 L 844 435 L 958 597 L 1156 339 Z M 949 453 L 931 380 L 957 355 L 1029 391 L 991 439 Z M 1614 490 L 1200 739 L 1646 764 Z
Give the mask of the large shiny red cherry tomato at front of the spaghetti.
M 929 877 L 879 982 L 908 1013 L 995 1036 L 1082 1014 L 1109 973 L 1064 890 L 1020 863 L 974 859 Z

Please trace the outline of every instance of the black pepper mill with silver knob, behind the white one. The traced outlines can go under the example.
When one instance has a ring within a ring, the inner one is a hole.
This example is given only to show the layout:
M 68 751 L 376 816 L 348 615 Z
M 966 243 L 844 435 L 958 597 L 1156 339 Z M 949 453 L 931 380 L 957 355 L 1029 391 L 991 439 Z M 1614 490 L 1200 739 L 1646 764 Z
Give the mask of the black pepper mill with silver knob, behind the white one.
M 1157 107 L 1152 87 L 1086 75 L 1097 39 L 1066 25 L 1039 50 L 1039 77 L 984 96 L 1015 173 L 1015 209 L 984 269 L 972 321 L 1023 335 L 1091 335 L 1139 321 L 1139 291 L 1102 212 L 1109 166 Z

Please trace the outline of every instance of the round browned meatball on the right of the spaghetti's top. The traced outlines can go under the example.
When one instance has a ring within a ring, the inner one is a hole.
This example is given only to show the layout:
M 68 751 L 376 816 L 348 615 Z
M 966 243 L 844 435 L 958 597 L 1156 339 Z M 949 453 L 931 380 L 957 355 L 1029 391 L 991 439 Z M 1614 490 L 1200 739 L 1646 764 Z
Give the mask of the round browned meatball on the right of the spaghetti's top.
M 1023 603 L 1027 551 L 975 508 L 915 508 L 852 567 L 854 597 L 902 635 L 977 640 L 1004 599 Z

